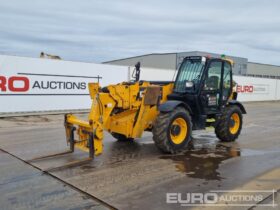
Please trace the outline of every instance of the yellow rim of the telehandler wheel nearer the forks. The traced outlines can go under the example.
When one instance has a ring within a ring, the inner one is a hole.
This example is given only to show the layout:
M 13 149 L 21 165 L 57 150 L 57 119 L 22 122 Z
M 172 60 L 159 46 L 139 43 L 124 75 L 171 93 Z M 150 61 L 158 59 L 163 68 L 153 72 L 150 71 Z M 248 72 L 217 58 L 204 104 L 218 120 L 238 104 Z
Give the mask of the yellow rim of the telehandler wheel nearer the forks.
M 174 144 L 181 144 L 188 133 L 188 125 L 185 119 L 177 118 L 171 124 L 170 138 Z

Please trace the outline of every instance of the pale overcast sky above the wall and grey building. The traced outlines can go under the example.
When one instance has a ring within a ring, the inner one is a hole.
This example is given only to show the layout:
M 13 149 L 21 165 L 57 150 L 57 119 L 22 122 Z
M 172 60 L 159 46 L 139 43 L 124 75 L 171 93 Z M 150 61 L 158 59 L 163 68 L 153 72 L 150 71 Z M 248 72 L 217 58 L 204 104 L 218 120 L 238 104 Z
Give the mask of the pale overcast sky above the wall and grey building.
M 276 0 L 0 0 L 0 53 L 102 62 L 209 51 L 280 65 Z

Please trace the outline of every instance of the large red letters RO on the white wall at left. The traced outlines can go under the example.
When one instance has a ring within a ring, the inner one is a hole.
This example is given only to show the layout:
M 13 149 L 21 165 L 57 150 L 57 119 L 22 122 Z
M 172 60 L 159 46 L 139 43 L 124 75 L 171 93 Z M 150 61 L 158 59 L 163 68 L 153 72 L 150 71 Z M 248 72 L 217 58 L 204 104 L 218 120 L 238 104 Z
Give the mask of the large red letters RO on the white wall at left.
M 12 76 L 4 77 L 0 76 L 0 91 L 6 92 L 26 92 L 29 90 L 30 83 L 27 77 Z

